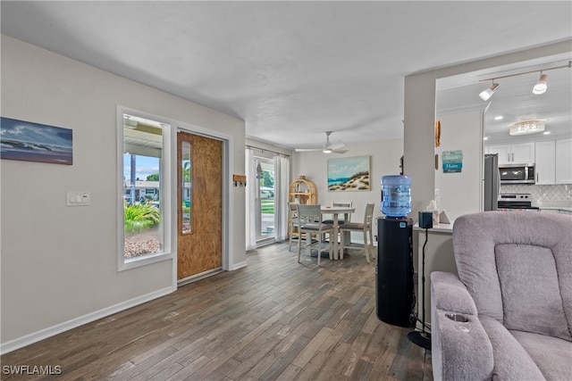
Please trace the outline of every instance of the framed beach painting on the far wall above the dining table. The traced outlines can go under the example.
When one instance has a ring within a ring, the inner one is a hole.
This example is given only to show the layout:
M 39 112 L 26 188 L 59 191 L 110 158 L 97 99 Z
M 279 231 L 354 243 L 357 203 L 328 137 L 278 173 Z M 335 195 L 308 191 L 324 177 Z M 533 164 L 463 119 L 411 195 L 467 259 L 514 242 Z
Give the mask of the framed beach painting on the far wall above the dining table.
M 329 191 L 368 191 L 369 156 L 328 160 Z

